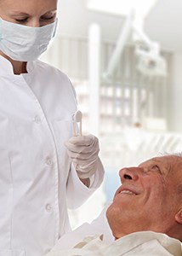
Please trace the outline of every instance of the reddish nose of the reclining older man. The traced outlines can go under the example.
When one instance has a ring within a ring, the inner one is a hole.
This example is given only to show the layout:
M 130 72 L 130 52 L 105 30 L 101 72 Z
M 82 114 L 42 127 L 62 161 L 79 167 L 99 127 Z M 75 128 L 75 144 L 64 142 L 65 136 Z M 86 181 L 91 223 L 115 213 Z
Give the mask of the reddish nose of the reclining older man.
M 139 179 L 139 172 L 141 172 L 140 167 L 127 167 L 122 168 L 119 171 L 119 176 L 121 178 L 121 182 L 123 183 L 126 180 L 137 181 Z

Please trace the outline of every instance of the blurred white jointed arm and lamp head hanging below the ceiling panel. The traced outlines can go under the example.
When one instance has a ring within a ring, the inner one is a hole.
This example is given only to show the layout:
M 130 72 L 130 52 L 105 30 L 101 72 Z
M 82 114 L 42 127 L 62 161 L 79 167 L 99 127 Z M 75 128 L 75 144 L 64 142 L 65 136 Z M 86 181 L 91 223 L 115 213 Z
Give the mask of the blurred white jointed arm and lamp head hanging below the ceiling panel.
M 166 76 L 167 64 L 160 54 L 160 46 L 152 42 L 143 29 L 144 20 L 140 19 L 134 10 L 128 15 L 122 32 L 118 38 L 116 49 L 111 55 L 111 61 L 104 73 L 105 79 L 111 79 L 121 59 L 124 46 L 128 44 L 128 39 L 132 38 L 135 54 L 137 56 L 137 70 L 148 76 Z

